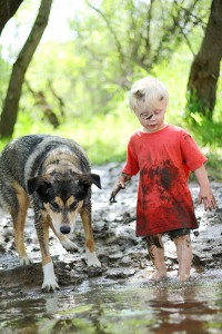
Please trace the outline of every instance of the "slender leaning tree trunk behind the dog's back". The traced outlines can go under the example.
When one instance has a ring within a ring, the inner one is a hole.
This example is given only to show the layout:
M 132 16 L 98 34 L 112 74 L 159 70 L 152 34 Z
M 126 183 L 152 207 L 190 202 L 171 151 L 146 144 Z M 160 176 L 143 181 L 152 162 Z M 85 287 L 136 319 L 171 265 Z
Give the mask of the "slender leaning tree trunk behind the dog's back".
M 11 138 L 13 128 L 17 121 L 19 109 L 19 100 L 22 90 L 26 71 L 33 57 L 33 53 L 39 45 L 39 41 L 48 24 L 52 0 L 41 0 L 39 13 L 32 30 L 19 53 L 17 61 L 13 65 L 7 97 L 3 105 L 3 110 L 0 119 L 0 136 L 1 138 Z

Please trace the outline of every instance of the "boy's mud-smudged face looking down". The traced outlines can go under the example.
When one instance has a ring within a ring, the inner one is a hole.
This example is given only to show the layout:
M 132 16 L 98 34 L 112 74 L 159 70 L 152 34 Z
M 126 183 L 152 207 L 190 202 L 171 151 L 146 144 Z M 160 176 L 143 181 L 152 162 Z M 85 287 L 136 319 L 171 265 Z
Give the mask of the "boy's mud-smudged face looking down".
M 135 110 L 135 115 L 143 127 L 145 132 L 157 132 L 164 128 L 164 117 L 167 110 L 167 102 L 160 101 L 155 104 L 152 108 L 144 108 Z

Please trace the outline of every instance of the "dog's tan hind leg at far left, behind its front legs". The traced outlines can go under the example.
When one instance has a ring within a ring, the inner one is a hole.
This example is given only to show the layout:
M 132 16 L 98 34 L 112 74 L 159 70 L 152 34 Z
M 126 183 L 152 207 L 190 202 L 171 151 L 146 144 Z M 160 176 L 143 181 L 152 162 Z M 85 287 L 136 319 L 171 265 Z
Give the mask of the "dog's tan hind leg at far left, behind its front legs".
M 16 191 L 16 198 L 13 207 L 11 208 L 11 216 L 14 229 L 14 244 L 17 252 L 19 253 L 20 264 L 29 265 L 32 261 L 28 257 L 24 247 L 24 224 L 29 207 L 29 198 L 24 189 L 18 184 L 14 185 L 13 189 Z

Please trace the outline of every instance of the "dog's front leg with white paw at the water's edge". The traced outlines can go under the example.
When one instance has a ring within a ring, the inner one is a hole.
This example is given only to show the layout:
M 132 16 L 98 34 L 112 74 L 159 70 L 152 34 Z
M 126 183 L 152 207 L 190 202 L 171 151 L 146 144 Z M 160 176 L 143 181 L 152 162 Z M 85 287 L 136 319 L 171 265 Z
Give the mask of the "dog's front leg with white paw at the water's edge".
M 50 289 L 59 289 L 59 285 L 57 283 L 57 276 L 54 275 L 53 263 L 49 253 L 49 217 L 44 217 L 40 214 L 37 214 L 34 225 L 37 229 L 37 235 L 39 238 L 40 250 L 42 256 L 42 268 L 43 268 L 43 284 L 42 288 Z

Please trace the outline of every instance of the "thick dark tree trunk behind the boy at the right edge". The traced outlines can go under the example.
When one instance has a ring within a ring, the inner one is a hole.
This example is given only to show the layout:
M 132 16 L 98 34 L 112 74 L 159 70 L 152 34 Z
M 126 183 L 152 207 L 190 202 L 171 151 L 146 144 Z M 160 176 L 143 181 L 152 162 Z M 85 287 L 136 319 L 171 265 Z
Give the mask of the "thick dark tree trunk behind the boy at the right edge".
M 186 90 L 189 114 L 198 111 L 212 119 L 221 58 L 222 0 L 212 0 L 205 36 L 191 66 Z

